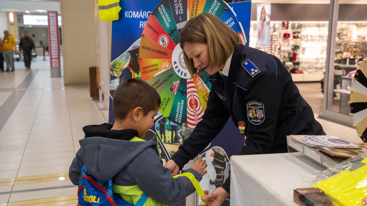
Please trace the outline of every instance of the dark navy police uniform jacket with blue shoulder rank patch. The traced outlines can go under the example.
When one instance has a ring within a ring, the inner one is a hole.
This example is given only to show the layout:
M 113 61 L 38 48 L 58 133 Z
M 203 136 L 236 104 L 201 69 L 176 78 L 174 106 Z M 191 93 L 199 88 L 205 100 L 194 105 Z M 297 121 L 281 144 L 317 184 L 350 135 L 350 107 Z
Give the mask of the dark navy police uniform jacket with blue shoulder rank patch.
M 228 77 L 217 72 L 209 80 L 203 118 L 171 158 L 180 168 L 206 148 L 229 116 L 236 126 L 244 125 L 240 155 L 287 152 L 287 135 L 325 135 L 291 74 L 273 55 L 239 44 Z M 229 192 L 229 186 L 230 178 L 222 187 Z

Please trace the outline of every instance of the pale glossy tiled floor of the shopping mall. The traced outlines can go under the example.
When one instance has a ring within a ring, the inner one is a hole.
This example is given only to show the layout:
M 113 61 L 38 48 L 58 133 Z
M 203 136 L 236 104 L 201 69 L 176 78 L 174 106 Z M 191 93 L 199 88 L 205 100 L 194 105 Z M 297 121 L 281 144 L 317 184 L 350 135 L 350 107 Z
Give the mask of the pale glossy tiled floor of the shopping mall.
M 82 127 L 106 122 L 108 111 L 89 97 L 87 86 L 65 87 L 51 78 L 49 61 L 32 70 L 15 62 L 0 73 L 0 206 L 76 205 L 68 178 L 70 162 L 84 137 Z M 319 84 L 298 84 L 315 113 L 322 112 Z M 328 134 L 361 142 L 352 127 L 319 119 Z

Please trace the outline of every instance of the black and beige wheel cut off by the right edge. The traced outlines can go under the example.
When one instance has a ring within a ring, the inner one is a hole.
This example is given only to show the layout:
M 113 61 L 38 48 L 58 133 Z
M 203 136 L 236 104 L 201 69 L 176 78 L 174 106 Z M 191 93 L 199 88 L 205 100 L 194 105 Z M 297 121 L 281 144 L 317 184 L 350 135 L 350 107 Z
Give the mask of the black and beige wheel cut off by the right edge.
M 358 136 L 367 143 L 367 61 L 363 59 L 352 78 L 350 87 L 350 115 Z

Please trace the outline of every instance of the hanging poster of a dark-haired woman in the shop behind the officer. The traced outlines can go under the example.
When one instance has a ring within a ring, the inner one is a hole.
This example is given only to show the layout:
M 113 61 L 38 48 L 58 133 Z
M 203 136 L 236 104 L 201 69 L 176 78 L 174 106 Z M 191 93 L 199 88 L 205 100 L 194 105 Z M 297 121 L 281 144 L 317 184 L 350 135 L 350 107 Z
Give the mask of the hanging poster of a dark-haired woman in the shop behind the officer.
M 257 47 L 269 47 L 271 4 L 256 5 Z

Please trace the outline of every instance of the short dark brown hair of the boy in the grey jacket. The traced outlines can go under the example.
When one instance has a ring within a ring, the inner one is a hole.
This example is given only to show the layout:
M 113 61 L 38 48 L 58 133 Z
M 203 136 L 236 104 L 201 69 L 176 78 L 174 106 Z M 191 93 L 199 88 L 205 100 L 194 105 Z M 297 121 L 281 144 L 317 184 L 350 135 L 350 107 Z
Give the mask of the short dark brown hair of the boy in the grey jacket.
M 161 103 L 158 92 L 147 82 L 131 78 L 123 81 L 113 93 L 113 114 L 115 119 L 124 120 L 136 107 L 143 108 L 143 114 L 159 108 Z

